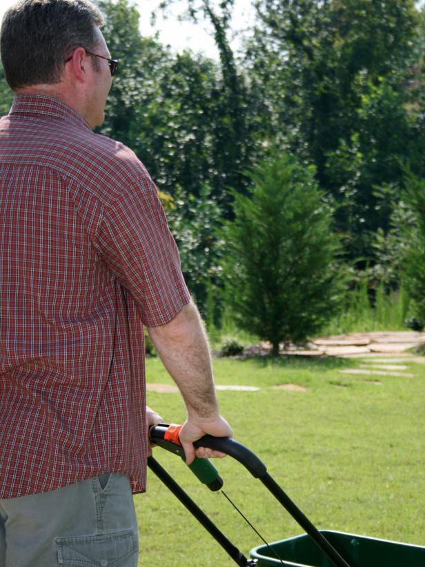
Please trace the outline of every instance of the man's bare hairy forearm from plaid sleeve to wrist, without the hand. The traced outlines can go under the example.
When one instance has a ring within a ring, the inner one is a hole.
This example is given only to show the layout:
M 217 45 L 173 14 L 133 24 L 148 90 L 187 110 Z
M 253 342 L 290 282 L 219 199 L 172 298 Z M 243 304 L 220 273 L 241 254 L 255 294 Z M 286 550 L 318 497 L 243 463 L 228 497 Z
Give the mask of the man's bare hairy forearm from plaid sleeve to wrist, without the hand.
M 208 339 L 192 302 L 170 323 L 148 329 L 159 357 L 175 380 L 190 417 L 208 420 L 218 414 Z

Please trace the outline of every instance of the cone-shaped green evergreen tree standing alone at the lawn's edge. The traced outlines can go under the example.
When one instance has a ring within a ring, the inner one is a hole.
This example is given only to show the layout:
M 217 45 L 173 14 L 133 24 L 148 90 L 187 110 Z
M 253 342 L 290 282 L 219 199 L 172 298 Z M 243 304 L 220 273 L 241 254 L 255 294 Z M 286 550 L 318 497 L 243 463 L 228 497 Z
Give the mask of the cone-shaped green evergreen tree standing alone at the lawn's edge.
M 339 239 L 313 168 L 275 156 L 250 171 L 250 196 L 234 193 L 226 225 L 226 276 L 242 328 L 273 344 L 303 341 L 333 315 L 341 290 Z

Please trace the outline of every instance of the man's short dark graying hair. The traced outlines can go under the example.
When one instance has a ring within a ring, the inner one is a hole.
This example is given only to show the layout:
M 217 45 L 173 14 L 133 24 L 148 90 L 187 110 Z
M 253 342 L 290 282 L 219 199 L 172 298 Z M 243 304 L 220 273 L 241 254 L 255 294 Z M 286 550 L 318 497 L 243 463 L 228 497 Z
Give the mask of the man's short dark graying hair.
M 72 50 L 91 50 L 103 15 L 89 0 L 20 0 L 3 17 L 0 53 L 10 88 L 57 83 Z

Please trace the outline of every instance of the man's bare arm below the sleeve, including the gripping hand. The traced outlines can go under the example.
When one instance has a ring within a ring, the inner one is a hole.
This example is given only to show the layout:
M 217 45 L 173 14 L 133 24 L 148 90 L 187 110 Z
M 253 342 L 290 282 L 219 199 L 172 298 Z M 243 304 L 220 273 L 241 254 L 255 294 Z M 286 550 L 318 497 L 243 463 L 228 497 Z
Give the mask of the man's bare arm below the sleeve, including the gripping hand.
M 221 457 L 207 448 L 195 451 L 192 443 L 206 435 L 230 437 L 232 430 L 219 415 L 210 348 L 195 304 L 189 304 L 166 325 L 148 328 L 150 339 L 174 379 L 186 404 L 188 417 L 180 441 L 190 464 L 197 457 Z

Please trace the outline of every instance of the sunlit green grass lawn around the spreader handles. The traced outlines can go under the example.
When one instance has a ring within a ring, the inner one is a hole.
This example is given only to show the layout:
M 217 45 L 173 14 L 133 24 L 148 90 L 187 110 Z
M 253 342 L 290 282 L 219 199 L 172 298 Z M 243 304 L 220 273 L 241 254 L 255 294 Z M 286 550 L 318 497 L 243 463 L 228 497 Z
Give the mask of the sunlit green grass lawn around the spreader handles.
M 413 378 L 338 372 L 359 364 L 365 361 L 217 359 L 217 384 L 261 388 L 219 391 L 221 413 L 317 528 L 425 546 L 425 365 L 409 365 Z M 148 382 L 173 384 L 158 359 L 147 368 Z M 288 383 L 307 391 L 272 389 Z M 149 392 L 148 404 L 166 421 L 184 419 L 178 394 Z M 160 448 L 154 456 L 245 555 L 261 545 L 225 497 L 201 485 L 179 457 Z M 226 493 L 267 541 L 302 533 L 237 461 L 215 464 Z M 140 566 L 235 564 L 152 473 L 135 504 Z

